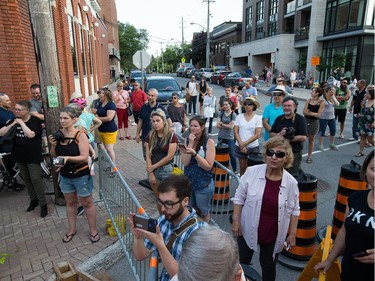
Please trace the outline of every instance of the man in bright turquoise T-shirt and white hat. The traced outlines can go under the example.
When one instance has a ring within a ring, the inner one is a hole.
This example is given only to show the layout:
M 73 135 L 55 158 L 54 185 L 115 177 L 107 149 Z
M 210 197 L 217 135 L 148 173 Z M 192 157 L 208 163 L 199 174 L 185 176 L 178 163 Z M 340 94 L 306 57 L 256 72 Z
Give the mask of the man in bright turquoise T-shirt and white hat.
M 275 119 L 283 115 L 283 107 L 281 106 L 281 103 L 284 99 L 284 97 L 287 95 L 287 92 L 285 90 L 285 86 L 278 85 L 275 90 L 273 91 L 273 103 L 268 104 L 264 108 L 263 116 L 262 116 L 262 122 L 264 127 L 264 140 L 268 141 L 270 138 L 270 130 L 275 122 Z

